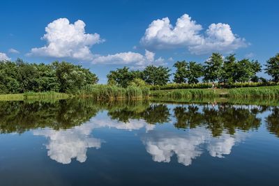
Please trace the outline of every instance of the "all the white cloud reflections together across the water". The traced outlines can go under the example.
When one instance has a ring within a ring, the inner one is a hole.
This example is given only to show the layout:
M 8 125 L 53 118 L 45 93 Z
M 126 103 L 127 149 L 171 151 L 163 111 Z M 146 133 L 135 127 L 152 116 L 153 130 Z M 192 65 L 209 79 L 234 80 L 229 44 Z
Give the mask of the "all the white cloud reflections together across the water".
M 43 129 L 34 131 L 35 135 L 43 135 L 49 139 L 46 145 L 47 155 L 52 160 L 62 164 L 69 164 L 76 158 L 79 162 L 86 161 L 87 148 L 100 148 L 101 139 L 91 137 L 93 129 L 109 127 L 119 130 L 140 130 L 139 133 L 147 153 L 155 162 L 170 162 L 176 155 L 177 161 L 185 166 L 208 151 L 212 157 L 229 155 L 232 147 L 246 138 L 244 132 L 237 131 L 234 135 L 223 132 L 220 137 L 212 137 L 206 127 L 177 132 L 174 130 L 160 130 L 156 125 L 149 125 L 144 120 L 130 119 L 128 123 L 111 120 L 110 118 L 92 118 L 88 123 L 68 130 Z

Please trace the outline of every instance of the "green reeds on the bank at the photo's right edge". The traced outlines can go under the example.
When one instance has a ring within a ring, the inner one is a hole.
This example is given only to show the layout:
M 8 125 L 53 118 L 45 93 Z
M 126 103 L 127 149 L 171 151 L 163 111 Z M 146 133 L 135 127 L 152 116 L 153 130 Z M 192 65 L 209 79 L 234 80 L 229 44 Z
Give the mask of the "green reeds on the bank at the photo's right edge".
M 232 98 L 279 98 L 279 86 L 264 86 L 252 88 L 229 89 L 229 97 Z

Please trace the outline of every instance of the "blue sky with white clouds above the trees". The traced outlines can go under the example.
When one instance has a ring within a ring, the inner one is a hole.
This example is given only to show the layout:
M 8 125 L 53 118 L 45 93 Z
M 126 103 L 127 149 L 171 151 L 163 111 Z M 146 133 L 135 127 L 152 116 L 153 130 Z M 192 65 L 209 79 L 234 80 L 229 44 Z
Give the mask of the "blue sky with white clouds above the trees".
M 204 63 L 212 52 L 264 65 L 279 52 L 278 7 L 269 0 L 1 1 L 0 60 L 68 61 L 100 83 L 123 66 Z

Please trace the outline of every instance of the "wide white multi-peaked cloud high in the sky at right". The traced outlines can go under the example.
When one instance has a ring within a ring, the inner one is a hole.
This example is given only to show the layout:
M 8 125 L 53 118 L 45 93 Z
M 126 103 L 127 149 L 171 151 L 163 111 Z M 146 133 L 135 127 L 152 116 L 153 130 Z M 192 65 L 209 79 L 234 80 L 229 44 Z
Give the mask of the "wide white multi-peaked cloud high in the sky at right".
M 187 14 L 179 17 L 175 26 L 165 17 L 151 22 L 140 42 L 151 49 L 186 47 L 193 54 L 227 53 L 247 46 L 245 39 L 232 33 L 229 24 L 210 24 L 205 33 L 201 31 L 202 26 Z

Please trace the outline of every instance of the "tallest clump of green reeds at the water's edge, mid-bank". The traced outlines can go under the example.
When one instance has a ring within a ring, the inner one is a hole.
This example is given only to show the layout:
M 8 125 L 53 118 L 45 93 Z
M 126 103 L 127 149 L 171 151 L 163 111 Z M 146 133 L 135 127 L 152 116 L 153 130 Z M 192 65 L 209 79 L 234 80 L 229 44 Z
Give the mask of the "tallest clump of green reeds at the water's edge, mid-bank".
M 137 86 L 122 88 L 119 86 L 97 84 L 84 86 L 78 94 L 82 97 L 90 97 L 96 100 L 147 98 L 149 96 L 149 88 Z

